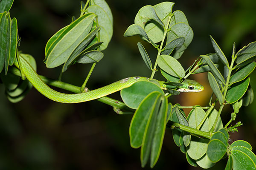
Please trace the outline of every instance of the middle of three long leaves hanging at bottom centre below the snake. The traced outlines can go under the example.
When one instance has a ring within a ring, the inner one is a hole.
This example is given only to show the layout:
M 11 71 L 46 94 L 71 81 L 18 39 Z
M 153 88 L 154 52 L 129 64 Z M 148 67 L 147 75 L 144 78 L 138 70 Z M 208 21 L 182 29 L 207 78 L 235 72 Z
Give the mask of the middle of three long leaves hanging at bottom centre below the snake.
M 145 132 L 144 132 L 142 146 L 140 150 L 140 160 L 141 160 L 142 167 L 145 167 L 151 152 L 152 141 L 154 138 L 154 130 L 156 128 L 156 122 L 157 122 L 157 112 L 159 111 L 160 102 L 161 102 L 160 98 L 162 94 L 160 94 L 159 92 L 155 92 L 155 93 L 157 94 L 157 96 L 153 95 L 154 103 L 152 103 L 153 107 L 148 117 L 147 124 L 145 126 Z

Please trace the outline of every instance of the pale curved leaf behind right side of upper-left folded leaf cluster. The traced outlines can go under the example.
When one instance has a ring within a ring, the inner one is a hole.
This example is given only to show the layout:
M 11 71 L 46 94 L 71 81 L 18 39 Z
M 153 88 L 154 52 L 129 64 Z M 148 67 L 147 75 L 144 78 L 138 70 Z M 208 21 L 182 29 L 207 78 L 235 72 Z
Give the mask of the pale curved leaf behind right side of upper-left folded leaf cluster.
M 97 15 L 97 20 L 100 27 L 100 41 L 103 42 L 103 44 L 99 47 L 99 50 L 105 50 L 108 47 L 108 43 L 110 42 L 113 35 L 113 20 L 111 22 L 108 13 L 100 6 L 91 5 L 86 10 L 87 12 L 91 12 Z

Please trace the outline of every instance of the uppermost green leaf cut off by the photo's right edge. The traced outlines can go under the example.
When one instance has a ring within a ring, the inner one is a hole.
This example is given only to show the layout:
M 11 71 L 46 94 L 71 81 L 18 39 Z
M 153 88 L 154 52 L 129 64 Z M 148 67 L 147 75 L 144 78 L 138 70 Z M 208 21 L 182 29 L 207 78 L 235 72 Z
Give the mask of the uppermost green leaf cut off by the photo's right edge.
M 242 62 L 256 56 L 256 42 L 251 42 L 247 46 L 244 46 L 236 53 L 236 63 L 241 64 Z

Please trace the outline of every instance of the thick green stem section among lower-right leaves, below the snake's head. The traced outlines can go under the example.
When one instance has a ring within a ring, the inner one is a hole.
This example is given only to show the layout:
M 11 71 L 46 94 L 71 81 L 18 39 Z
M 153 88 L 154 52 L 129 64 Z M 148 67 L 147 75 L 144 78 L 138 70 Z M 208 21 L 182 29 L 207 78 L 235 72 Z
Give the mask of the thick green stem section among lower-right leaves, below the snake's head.
M 188 133 L 191 133 L 191 134 L 194 134 L 194 135 L 197 135 L 197 136 L 202 136 L 202 137 L 205 137 L 207 139 L 211 139 L 211 136 L 210 136 L 209 132 L 204 132 L 204 131 L 201 131 L 201 130 L 197 130 L 195 128 L 188 127 L 188 126 L 185 126 L 185 125 L 181 125 L 179 123 L 172 122 L 170 120 L 169 120 L 168 124 L 171 125 L 171 128 L 176 127 L 176 128 L 179 128 L 180 130 L 184 130 Z

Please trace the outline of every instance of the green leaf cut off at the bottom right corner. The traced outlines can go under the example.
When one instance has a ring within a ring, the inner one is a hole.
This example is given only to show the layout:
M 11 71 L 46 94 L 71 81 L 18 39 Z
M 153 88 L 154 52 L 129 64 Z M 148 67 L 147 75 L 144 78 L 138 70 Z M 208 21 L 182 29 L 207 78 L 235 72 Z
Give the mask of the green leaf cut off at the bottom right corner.
M 253 159 L 240 150 L 232 150 L 230 156 L 233 159 L 233 170 L 255 170 Z

